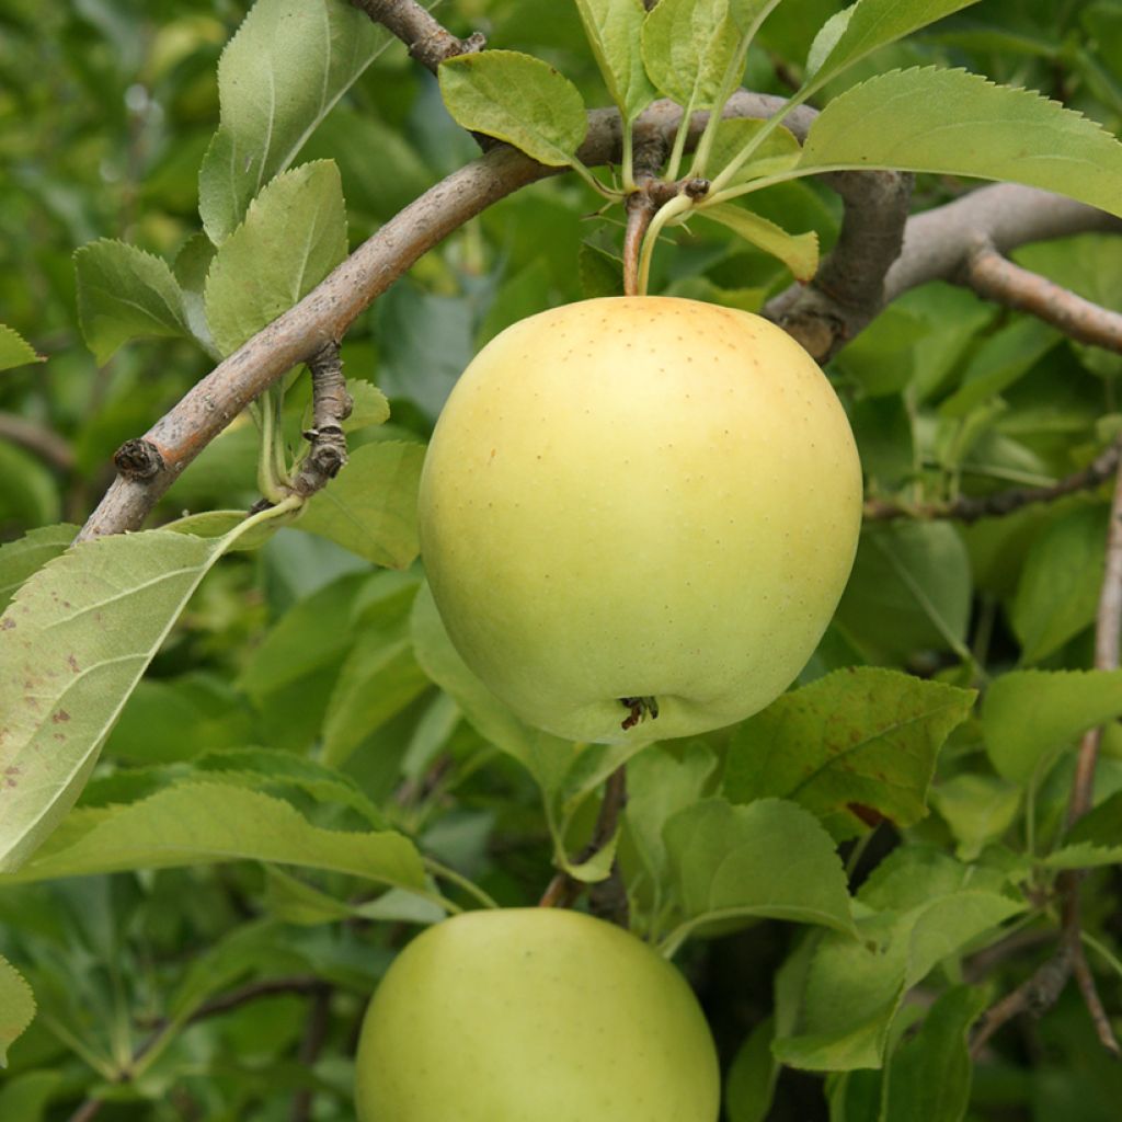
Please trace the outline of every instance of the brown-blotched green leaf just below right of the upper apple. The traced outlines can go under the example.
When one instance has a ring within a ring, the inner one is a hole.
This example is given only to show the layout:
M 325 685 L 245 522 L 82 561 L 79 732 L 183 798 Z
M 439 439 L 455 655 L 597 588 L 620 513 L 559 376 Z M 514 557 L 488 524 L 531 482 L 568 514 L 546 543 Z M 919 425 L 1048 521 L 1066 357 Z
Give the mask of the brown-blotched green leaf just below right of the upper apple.
M 974 697 L 891 670 L 835 671 L 737 727 L 725 794 L 734 802 L 791 799 L 838 838 L 881 816 L 911 826 L 927 812 L 939 748 Z

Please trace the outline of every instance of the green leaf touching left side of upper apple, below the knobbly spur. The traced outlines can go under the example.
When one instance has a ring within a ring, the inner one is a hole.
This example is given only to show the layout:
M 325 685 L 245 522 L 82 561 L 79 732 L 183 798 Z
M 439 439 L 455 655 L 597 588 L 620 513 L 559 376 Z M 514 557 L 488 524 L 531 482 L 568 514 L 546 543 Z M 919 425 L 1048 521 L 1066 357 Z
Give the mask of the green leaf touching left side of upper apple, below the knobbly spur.
M 374 564 L 407 568 L 420 551 L 416 494 L 423 461 L 422 444 L 364 444 L 339 476 L 312 496 L 297 525 Z

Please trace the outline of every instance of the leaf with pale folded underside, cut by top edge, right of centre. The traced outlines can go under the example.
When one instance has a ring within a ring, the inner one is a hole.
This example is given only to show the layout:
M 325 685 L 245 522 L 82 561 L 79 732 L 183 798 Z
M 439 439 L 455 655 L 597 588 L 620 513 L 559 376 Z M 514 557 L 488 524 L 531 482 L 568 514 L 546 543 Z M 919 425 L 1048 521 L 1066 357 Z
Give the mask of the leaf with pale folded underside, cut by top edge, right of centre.
M 879 47 L 960 11 L 977 0 L 859 0 L 821 27 L 807 59 L 807 93 L 861 62 Z M 802 93 L 803 91 L 800 91 Z

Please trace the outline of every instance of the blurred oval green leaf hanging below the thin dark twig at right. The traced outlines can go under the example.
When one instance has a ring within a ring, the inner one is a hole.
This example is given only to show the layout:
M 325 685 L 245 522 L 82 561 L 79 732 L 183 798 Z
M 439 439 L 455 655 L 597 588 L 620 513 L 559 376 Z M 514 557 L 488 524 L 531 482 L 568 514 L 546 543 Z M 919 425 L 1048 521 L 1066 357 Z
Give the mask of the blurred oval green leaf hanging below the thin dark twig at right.
M 1079 506 L 1032 543 L 1010 608 L 1021 661 L 1039 662 L 1089 627 L 1106 555 L 1105 505 Z

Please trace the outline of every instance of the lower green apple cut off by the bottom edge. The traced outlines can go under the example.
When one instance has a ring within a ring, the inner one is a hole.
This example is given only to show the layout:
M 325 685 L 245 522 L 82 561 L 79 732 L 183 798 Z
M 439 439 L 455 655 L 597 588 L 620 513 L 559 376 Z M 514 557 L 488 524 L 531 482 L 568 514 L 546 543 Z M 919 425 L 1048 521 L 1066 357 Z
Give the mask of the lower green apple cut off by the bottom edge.
M 604 920 L 466 912 L 395 959 L 362 1024 L 359 1122 L 716 1122 L 681 974 Z

